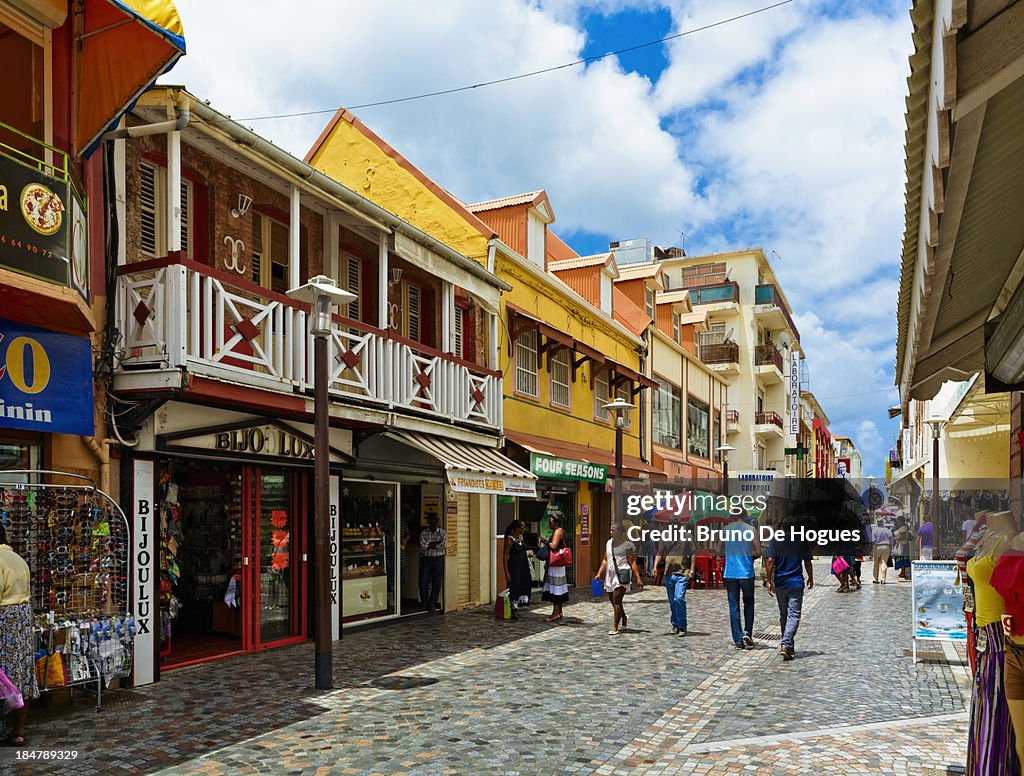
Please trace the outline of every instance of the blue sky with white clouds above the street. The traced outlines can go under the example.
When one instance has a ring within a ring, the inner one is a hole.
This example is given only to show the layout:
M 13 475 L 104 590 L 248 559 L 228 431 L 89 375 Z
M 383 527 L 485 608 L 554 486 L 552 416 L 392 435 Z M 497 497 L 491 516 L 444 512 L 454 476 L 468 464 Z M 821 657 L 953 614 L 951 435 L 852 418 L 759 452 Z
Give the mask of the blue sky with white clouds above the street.
M 234 117 L 469 85 L 720 21 L 766 0 L 177 0 L 188 54 L 164 79 Z M 316 25 L 308 19 L 315 18 Z M 467 202 L 544 188 L 581 253 L 645 236 L 690 255 L 762 246 L 811 389 L 865 473 L 898 431 L 905 2 L 797 0 L 586 67 L 359 118 Z M 303 156 L 328 116 L 254 121 Z M 777 257 L 781 257 L 780 259 Z

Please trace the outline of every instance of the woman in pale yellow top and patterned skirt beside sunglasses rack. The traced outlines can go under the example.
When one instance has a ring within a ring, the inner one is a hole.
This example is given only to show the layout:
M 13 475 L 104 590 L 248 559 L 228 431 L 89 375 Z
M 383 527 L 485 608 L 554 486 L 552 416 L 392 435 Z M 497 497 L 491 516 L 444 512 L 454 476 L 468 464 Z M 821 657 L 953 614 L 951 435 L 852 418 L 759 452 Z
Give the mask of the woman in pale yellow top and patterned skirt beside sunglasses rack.
M 39 697 L 32 656 L 32 604 L 29 603 L 29 564 L 7 544 L 0 525 L 0 671 L 22 693 L 25 704 L 11 712 L 11 746 L 25 746 L 29 701 Z

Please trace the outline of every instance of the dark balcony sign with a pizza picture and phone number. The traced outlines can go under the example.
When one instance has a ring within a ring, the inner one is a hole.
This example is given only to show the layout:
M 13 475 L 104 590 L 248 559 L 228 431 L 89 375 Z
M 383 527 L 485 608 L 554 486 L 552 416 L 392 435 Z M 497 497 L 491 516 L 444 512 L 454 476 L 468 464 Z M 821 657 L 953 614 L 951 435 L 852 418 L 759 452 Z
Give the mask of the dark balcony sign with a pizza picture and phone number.
M 67 180 L 0 156 L 0 267 L 89 298 L 85 206 Z

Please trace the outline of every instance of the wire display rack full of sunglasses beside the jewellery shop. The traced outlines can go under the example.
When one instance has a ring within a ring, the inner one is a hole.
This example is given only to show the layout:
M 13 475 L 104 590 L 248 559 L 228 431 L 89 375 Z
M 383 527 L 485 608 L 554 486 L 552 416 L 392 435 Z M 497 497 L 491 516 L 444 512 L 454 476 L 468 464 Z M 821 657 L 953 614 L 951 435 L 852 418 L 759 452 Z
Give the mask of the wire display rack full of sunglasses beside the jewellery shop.
M 58 479 L 69 484 L 39 482 Z M 39 689 L 102 689 L 131 672 L 128 520 L 81 475 L 0 472 L 0 524 L 29 564 Z

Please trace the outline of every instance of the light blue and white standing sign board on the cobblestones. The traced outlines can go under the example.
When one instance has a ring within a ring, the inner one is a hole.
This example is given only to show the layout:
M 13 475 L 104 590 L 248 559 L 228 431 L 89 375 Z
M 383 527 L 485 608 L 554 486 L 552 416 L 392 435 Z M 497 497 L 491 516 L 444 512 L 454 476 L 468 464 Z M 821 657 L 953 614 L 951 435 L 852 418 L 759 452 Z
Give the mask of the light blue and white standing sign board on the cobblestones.
M 913 601 L 913 638 L 967 641 L 964 587 L 956 562 L 915 560 L 910 572 Z

